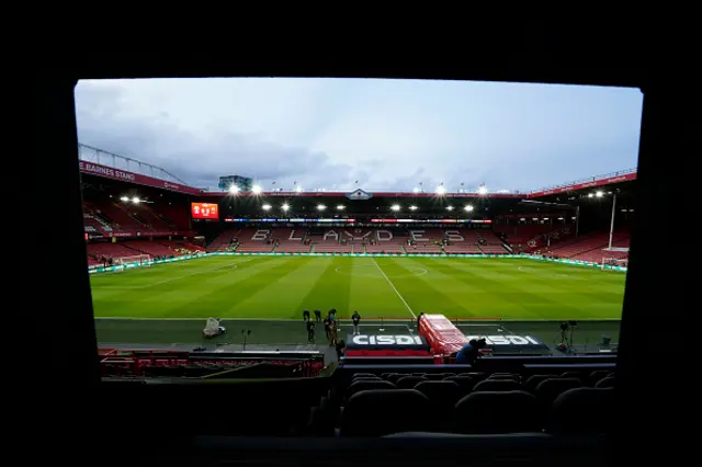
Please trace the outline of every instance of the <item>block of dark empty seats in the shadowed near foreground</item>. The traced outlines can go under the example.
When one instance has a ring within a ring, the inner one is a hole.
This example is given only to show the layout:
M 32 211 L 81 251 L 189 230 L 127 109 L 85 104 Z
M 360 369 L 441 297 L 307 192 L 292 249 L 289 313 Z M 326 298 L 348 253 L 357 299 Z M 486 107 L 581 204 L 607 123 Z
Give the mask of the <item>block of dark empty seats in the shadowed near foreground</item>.
M 600 434 L 609 429 L 603 421 L 613 408 L 614 383 L 607 371 L 589 369 L 355 373 L 350 379 L 339 378 L 312 410 L 309 433 Z

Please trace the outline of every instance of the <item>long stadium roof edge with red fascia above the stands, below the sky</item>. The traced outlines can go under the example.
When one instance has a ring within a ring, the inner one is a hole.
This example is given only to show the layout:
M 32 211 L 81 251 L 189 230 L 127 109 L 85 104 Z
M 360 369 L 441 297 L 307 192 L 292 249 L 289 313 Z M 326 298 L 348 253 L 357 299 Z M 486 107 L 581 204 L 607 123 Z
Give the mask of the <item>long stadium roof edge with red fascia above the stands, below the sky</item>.
M 213 192 L 205 189 L 197 189 L 188 185 L 178 176 L 160 167 L 141 162 L 136 159 L 115 155 L 110 151 L 98 149 L 88 145 L 79 144 L 79 168 L 81 173 L 103 176 L 112 180 L 120 180 L 157 189 L 170 190 L 173 192 L 199 195 L 222 197 L 229 195 L 228 192 Z M 622 170 L 618 172 L 605 173 L 603 175 L 590 176 L 587 179 L 576 180 L 559 185 L 546 186 L 531 192 L 467 192 L 460 190 L 458 192 L 445 191 L 442 194 L 450 197 L 501 197 L 501 198 L 535 198 L 559 193 L 568 193 L 582 189 L 611 185 L 615 183 L 629 182 L 636 180 L 636 169 Z M 343 197 L 351 200 L 363 200 L 365 197 L 433 197 L 435 192 L 366 192 L 356 189 L 352 192 L 329 192 L 324 190 L 273 190 L 269 192 L 258 193 L 264 196 L 285 196 L 285 197 Z M 254 193 L 241 193 L 238 196 L 256 196 Z

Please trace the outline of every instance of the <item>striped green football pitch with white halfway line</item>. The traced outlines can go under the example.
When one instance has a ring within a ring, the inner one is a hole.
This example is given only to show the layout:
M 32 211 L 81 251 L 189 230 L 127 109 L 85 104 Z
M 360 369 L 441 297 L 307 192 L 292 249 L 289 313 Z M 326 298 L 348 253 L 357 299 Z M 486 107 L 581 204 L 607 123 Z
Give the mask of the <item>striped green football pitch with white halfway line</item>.
M 587 339 L 615 338 L 624 280 L 528 259 L 222 255 L 94 274 L 91 288 L 101 342 L 196 343 L 217 317 L 251 329 L 251 343 L 298 343 L 302 311 L 316 308 L 341 319 L 358 310 L 378 329 L 441 314 L 478 333 L 547 341 L 564 320 L 581 322 Z

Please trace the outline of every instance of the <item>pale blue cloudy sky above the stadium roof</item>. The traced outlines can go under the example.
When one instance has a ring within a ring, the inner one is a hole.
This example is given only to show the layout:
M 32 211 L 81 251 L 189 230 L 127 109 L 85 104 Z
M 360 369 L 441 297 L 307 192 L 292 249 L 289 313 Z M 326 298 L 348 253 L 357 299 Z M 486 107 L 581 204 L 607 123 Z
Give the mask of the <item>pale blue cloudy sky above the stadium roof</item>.
M 191 186 L 530 191 L 635 168 L 637 89 L 376 79 L 80 81 L 79 141 Z M 273 182 L 275 182 L 273 184 Z M 358 183 L 356 183 L 358 182 Z M 421 185 L 420 185 L 421 183 Z

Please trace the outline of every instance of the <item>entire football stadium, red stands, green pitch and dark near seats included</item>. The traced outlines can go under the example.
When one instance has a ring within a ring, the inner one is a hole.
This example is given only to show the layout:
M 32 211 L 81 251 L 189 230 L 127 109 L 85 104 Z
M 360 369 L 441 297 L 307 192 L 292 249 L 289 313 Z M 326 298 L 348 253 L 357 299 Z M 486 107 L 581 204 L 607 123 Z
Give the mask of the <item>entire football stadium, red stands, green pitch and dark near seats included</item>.
M 208 191 L 79 155 L 103 380 L 196 381 L 278 421 L 213 433 L 602 430 L 635 170 L 529 192 Z

